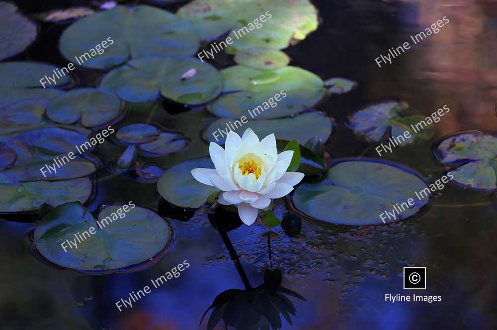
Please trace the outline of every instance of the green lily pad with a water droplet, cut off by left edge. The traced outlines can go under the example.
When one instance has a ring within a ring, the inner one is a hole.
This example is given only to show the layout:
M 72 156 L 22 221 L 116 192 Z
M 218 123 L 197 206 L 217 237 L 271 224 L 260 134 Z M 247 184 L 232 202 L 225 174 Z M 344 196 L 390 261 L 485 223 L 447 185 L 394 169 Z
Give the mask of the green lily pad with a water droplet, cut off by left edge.
M 92 193 L 88 177 L 61 181 L 0 183 L 0 213 L 35 212 L 43 203 L 54 206 L 68 202 L 85 203 Z

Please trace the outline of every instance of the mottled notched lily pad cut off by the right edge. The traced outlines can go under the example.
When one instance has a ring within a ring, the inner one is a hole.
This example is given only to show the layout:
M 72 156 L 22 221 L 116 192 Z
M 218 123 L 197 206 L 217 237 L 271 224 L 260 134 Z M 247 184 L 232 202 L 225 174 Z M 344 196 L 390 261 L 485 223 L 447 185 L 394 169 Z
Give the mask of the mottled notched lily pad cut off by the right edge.
M 450 172 L 451 182 L 466 188 L 492 191 L 497 188 L 497 137 L 478 131 L 456 134 L 435 148 L 437 160 L 461 165 Z

